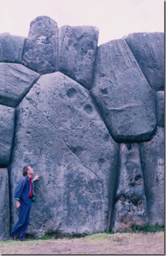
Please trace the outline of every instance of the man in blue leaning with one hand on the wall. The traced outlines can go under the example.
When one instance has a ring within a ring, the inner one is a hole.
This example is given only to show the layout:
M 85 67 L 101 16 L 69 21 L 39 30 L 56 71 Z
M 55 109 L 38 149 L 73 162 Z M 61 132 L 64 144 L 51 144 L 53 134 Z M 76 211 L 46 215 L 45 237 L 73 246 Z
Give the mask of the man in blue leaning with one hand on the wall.
M 36 199 L 34 182 L 40 179 L 40 175 L 36 174 L 32 180 L 32 174 L 34 174 L 34 171 L 31 166 L 24 166 L 22 170 L 24 177 L 18 182 L 14 191 L 16 207 L 19 208 L 19 216 L 18 222 L 11 232 L 11 239 L 15 239 L 18 236 L 18 239 L 23 241 L 25 237 L 30 220 L 31 202 L 35 202 Z

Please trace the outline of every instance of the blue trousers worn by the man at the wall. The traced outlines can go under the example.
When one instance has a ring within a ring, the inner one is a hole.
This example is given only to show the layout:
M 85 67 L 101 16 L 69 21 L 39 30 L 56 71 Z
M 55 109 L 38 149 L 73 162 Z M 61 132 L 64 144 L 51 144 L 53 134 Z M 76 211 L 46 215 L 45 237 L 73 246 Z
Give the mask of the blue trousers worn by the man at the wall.
M 20 202 L 20 204 L 18 222 L 15 224 L 10 236 L 18 236 L 18 239 L 23 239 L 30 220 L 31 199 L 28 200 L 28 204 L 23 202 Z

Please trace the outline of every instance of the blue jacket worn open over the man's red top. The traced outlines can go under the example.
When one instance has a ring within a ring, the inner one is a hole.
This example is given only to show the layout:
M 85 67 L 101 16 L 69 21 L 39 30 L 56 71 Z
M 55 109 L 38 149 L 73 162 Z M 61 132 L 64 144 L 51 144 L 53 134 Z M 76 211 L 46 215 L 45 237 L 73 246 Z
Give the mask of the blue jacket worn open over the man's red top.
M 33 184 L 33 197 L 32 202 L 35 202 L 36 193 L 34 190 L 34 181 L 32 180 Z M 27 176 L 22 177 L 22 179 L 18 182 L 14 190 L 14 199 L 18 201 L 23 201 L 25 204 L 28 203 L 30 194 L 30 182 Z

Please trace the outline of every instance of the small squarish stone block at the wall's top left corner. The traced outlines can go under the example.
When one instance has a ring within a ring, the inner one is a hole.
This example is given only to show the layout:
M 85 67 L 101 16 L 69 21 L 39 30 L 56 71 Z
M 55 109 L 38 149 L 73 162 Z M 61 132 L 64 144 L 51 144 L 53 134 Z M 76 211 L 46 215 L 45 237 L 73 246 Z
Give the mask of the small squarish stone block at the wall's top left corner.
M 22 62 L 22 52 L 25 38 L 9 33 L 0 34 L 0 61 L 1 62 Z

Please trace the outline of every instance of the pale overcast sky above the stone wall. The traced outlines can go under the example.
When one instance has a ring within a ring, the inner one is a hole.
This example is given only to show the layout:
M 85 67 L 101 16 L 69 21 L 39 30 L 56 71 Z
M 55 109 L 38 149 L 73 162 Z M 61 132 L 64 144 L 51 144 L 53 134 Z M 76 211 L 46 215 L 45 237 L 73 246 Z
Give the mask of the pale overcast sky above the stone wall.
M 135 32 L 164 32 L 164 0 L 0 0 L 0 33 L 27 37 L 37 16 L 99 28 L 99 43 Z

